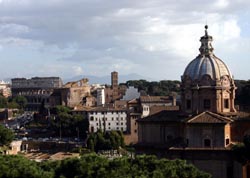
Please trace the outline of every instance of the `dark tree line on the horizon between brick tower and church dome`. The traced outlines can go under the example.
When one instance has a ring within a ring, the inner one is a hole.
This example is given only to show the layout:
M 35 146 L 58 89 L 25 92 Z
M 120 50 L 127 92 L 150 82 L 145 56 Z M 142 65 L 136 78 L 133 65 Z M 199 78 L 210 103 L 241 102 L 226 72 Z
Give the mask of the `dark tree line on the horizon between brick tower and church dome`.
M 129 80 L 127 86 L 134 86 L 140 92 L 145 92 L 146 95 L 164 96 L 180 92 L 180 81 L 177 80 L 162 80 L 160 82 L 148 82 L 146 80 Z

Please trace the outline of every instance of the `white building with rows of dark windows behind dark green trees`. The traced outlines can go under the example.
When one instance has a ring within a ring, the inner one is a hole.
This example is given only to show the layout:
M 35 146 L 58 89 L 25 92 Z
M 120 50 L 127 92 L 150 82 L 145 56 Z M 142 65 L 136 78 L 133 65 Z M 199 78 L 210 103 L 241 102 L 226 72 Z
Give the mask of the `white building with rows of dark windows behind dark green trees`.
M 127 131 L 127 112 L 124 109 L 95 108 L 88 111 L 89 131 L 96 132 L 99 129 L 104 131 Z

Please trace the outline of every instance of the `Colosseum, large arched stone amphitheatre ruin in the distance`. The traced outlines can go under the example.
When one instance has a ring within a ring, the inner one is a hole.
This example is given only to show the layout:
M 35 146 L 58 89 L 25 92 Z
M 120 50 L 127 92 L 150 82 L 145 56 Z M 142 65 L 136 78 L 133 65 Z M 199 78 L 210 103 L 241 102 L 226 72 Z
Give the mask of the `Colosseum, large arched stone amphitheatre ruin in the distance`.
M 42 102 L 49 106 L 50 95 L 63 85 L 60 77 L 13 78 L 11 83 L 12 96 L 24 96 L 30 111 L 38 111 Z

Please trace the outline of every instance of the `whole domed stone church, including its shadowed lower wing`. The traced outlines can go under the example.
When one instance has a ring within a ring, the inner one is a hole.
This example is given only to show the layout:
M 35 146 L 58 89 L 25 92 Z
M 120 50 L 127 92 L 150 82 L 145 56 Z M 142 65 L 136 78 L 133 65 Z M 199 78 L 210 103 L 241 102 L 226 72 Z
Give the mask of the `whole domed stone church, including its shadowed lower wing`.
M 250 119 L 242 118 L 234 107 L 233 77 L 213 53 L 207 28 L 200 54 L 181 77 L 180 111 L 138 119 L 137 152 L 186 159 L 213 177 L 242 177 L 242 167 L 230 149 L 250 131 Z

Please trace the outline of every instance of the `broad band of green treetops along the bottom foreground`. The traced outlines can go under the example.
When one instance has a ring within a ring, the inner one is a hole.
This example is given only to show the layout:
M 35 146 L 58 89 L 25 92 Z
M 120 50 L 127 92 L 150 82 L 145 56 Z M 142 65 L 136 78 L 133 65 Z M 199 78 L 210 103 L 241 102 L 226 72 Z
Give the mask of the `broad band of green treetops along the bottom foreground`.
M 0 156 L 0 177 L 47 178 L 209 178 L 183 160 L 136 156 L 107 159 L 96 154 L 62 161 L 36 163 L 21 156 Z

